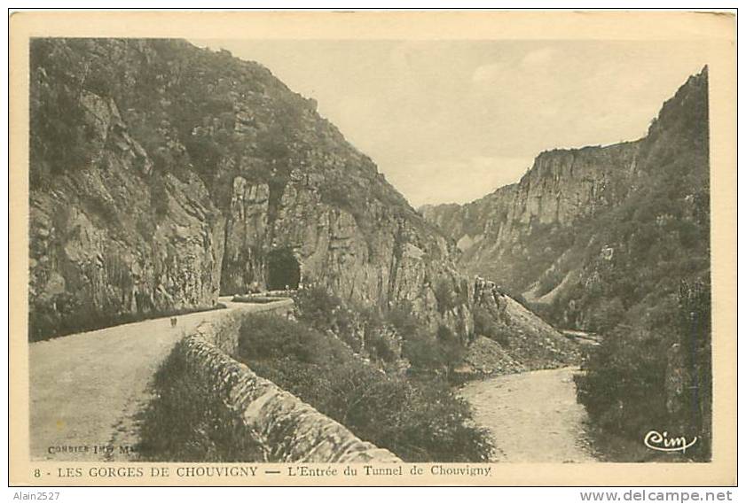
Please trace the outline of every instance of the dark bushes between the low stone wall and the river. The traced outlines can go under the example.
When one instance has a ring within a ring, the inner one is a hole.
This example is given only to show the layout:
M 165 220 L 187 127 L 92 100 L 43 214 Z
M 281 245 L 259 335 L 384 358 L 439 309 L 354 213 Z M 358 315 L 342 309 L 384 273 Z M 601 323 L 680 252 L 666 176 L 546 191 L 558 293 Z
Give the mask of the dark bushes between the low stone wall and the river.
M 387 375 L 341 341 L 301 323 L 247 317 L 238 359 L 357 437 L 406 461 L 489 458 L 486 431 L 473 426 L 467 403 L 443 380 Z

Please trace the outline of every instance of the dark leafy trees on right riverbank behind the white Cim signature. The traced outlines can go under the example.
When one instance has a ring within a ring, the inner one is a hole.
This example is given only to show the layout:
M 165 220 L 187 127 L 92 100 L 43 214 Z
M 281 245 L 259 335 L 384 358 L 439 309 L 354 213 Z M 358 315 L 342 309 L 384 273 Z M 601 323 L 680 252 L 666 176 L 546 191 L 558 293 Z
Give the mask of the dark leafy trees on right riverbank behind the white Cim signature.
M 687 456 L 709 460 L 709 282 L 682 282 L 676 308 L 617 326 L 583 368 L 585 375 L 576 377 L 577 399 L 601 430 L 632 443 L 651 429 L 697 436 L 700 441 Z

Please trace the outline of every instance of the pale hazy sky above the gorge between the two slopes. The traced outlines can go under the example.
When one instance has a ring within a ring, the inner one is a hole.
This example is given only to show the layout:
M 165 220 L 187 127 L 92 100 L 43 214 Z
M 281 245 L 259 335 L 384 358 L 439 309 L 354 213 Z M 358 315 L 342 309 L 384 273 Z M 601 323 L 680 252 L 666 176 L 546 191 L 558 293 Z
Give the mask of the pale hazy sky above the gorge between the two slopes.
M 541 151 L 644 136 L 702 43 L 191 41 L 269 68 L 417 207 L 520 180 Z

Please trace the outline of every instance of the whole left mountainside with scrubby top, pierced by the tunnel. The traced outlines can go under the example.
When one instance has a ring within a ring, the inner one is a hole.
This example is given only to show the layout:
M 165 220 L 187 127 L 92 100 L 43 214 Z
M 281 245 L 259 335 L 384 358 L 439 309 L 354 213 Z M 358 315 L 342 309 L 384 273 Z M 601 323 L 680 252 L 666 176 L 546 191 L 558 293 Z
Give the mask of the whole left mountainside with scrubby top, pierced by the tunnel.
M 449 241 L 263 66 L 35 39 L 30 68 L 30 337 L 296 283 L 471 331 Z

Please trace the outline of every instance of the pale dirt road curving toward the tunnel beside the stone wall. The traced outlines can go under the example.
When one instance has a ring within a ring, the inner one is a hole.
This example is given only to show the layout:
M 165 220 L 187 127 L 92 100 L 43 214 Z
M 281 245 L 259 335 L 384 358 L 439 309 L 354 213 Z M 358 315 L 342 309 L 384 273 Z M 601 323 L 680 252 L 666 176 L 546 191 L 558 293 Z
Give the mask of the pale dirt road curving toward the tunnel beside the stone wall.
M 228 310 L 270 306 L 221 302 Z M 185 332 L 228 310 L 179 315 L 176 328 L 165 317 L 29 345 L 31 458 L 131 456 L 120 447 L 137 441 L 134 417 L 150 399 L 149 384 L 161 361 Z M 114 446 L 114 453 L 96 446 Z

